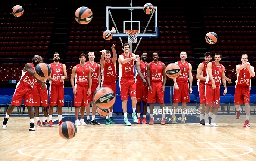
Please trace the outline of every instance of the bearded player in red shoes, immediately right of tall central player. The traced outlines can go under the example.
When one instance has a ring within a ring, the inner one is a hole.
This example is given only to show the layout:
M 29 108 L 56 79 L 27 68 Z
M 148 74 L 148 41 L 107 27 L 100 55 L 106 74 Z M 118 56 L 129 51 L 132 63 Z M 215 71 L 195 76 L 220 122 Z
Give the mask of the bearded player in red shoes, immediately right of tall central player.
M 147 53 L 142 53 L 140 62 L 136 62 L 136 98 L 137 98 L 137 115 L 138 122 L 136 124 L 147 124 L 146 114 L 147 114 Z M 143 118 L 141 121 L 140 111 L 141 111 L 141 101 L 143 107 Z

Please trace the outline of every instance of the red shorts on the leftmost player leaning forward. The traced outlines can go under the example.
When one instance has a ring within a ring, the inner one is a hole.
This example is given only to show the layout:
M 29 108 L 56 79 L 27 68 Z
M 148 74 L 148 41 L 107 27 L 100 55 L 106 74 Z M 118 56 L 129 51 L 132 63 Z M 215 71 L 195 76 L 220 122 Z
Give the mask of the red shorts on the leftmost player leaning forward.
M 12 97 L 11 105 L 19 106 L 24 98 L 24 106 L 33 106 L 33 88 L 21 85 L 18 82 Z

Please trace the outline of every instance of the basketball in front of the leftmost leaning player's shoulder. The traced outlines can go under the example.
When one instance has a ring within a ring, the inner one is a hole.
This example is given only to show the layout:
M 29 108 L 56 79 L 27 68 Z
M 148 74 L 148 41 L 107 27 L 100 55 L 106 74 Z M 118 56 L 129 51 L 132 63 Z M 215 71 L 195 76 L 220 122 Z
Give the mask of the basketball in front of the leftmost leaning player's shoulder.
M 34 67 L 34 73 L 37 79 L 48 79 L 52 74 L 51 67 L 46 63 L 39 63 Z

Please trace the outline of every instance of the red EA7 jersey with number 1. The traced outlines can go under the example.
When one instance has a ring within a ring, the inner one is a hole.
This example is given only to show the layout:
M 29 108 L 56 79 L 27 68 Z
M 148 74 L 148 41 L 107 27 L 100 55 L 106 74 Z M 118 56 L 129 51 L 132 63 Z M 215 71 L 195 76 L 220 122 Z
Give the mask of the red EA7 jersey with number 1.
M 150 62 L 150 80 L 151 82 L 159 82 L 162 81 L 162 70 L 163 70 L 163 63 L 158 61 L 157 64 L 154 61 Z

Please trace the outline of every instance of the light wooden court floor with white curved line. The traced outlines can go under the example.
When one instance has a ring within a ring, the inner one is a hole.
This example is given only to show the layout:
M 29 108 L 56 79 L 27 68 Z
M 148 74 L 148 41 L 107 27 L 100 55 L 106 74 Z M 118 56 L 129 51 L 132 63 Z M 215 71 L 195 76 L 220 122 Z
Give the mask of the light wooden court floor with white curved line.
M 87 125 L 66 140 L 58 125 L 28 131 L 27 116 L 11 115 L 0 130 L 0 161 L 256 161 L 256 115 L 250 116 L 250 128 L 243 127 L 244 115 L 239 120 L 219 115 L 217 120 L 217 128 Z

